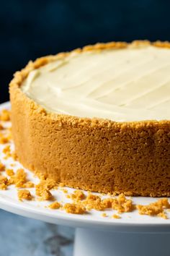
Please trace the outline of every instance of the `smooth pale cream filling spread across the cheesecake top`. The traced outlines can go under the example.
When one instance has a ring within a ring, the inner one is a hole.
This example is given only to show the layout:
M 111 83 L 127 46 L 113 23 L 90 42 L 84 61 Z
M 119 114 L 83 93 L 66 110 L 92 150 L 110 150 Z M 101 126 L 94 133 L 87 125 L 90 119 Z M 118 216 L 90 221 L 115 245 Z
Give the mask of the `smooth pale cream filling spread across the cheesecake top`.
M 48 112 L 113 121 L 170 119 L 170 50 L 73 52 L 35 69 L 23 92 Z

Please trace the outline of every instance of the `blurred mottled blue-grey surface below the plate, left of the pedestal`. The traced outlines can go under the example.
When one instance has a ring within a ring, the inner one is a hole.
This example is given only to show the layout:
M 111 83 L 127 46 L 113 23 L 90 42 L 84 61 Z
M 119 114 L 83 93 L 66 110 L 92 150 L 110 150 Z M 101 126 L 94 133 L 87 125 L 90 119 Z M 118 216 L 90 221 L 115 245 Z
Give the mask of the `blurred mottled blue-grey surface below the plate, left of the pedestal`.
M 0 256 L 72 256 L 74 229 L 0 210 Z

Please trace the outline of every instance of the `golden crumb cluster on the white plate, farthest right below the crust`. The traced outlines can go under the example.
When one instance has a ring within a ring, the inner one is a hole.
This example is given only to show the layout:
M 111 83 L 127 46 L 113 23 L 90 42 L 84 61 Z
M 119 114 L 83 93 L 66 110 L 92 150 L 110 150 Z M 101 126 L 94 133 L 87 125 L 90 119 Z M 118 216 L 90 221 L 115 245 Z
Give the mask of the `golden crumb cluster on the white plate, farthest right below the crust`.
M 156 202 L 151 202 L 149 205 L 136 205 L 139 214 L 148 216 L 158 216 L 167 218 L 165 209 L 170 208 L 169 200 L 167 198 L 159 199 Z

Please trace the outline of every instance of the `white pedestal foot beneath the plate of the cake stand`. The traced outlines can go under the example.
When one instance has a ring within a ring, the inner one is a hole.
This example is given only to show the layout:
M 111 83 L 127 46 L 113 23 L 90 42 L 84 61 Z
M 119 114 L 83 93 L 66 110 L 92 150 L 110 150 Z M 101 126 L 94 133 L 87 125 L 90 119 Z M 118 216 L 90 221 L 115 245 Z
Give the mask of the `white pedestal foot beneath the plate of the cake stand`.
M 73 256 L 169 256 L 170 233 L 76 229 Z

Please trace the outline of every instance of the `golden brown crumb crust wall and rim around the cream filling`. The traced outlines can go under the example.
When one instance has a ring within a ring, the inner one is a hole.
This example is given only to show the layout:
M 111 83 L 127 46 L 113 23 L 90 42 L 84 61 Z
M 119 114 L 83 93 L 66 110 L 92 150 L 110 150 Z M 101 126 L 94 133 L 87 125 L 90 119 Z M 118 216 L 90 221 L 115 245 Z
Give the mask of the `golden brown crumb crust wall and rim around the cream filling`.
M 139 47 L 148 41 L 135 41 Z M 152 43 L 170 48 L 170 43 Z M 125 48 L 127 43 L 76 51 Z M 66 54 L 30 62 L 10 84 L 12 130 L 19 161 L 69 187 L 126 195 L 170 195 L 170 121 L 115 122 L 48 114 L 20 85 L 32 69 Z

